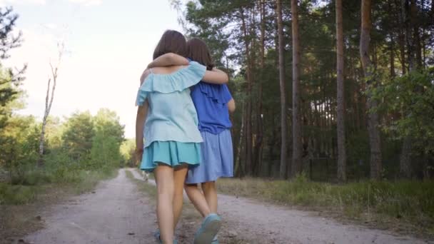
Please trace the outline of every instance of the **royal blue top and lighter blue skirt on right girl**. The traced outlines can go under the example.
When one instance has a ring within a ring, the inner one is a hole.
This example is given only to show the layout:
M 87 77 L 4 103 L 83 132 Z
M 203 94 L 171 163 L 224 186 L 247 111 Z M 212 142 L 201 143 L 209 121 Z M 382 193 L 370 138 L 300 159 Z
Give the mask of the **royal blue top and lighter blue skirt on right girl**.
M 203 143 L 201 164 L 188 168 L 186 183 L 233 177 L 232 123 L 228 112 L 228 101 L 232 96 L 228 87 L 201 81 L 192 88 L 191 98 L 198 113 Z

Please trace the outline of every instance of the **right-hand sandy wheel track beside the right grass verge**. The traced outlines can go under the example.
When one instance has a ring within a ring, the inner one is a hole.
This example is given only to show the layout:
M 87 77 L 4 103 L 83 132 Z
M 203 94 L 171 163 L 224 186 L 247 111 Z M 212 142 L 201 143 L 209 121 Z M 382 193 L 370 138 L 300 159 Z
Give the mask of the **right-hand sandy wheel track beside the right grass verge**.
M 134 170 L 131 172 L 141 179 L 139 173 Z M 153 183 L 151 180 L 149 182 Z M 248 243 L 428 243 L 383 230 L 343 225 L 312 212 L 265 205 L 231 195 L 218 195 L 218 204 L 218 212 L 225 222 L 221 235 L 228 235 L 235 230 L 237 238 L 249 240 Z

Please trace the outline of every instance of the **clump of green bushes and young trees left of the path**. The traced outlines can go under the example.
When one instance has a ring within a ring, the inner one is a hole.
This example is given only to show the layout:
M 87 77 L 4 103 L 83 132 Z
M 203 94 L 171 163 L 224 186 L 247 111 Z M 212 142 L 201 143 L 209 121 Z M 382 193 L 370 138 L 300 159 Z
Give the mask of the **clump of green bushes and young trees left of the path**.
M 0 168 L 8 173 L 8 184 L 1 186 L 0 204 L 31 202 L 49 183 L 84 192 L 113 176 L 121 163 L 123 126 L 113 111 L 101 109 L 97 116 L 74 113 L 65 123 L 50 119 L 42 166 L 40 131 L 41 123 L 31 116 L 14 116 L 0 131 Z

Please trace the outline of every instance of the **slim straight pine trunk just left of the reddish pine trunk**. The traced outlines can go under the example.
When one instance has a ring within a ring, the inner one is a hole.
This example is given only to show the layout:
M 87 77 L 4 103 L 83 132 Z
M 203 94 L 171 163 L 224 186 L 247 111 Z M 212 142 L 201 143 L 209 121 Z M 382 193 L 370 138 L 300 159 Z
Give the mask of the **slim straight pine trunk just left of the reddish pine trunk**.
M 279 83 L 281 87 L 281 168 L 280 178 L 286 175 L 286 88 L 285 88 L 285 43 L 283 40 L 282 1 L 277 0 L 277 25 L 279 45 Z

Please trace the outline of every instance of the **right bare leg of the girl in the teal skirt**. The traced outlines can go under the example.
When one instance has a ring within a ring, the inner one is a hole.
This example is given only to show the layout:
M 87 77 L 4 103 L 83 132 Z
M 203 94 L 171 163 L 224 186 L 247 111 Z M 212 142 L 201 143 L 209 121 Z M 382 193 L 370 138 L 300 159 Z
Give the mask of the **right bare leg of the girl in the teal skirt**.
M 181 216 L 182 212 L 183 185 L 186 181 L 187 171 L 187 164 L 183 164 L 182 166 L 176 167 L 175 171 L 173 172 L 173 181 L 175 187 L 175 192 L 173 195 L 173 230 L 176 228 L 176 224 L 178 224 L 179 216 Z

